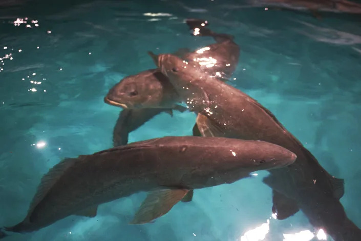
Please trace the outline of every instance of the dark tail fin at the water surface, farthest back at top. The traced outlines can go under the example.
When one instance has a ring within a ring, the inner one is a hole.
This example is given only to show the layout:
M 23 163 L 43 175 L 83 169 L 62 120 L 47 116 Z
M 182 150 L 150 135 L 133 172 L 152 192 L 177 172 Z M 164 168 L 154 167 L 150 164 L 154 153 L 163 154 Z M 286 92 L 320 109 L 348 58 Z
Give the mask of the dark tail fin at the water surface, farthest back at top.
M 185 23 L 188 25 L 189 30 L 192 31 L 192 35 L 195 36 L 210 36 L 215 39 L 217 43 L 222 43 L 224 41 L 233 40 L 233 36 L 225 33 L 215 33 L 205 26 L 208 25 L 208 22 L 203 19 L 198 18 L 188 18 L 185 20 Z

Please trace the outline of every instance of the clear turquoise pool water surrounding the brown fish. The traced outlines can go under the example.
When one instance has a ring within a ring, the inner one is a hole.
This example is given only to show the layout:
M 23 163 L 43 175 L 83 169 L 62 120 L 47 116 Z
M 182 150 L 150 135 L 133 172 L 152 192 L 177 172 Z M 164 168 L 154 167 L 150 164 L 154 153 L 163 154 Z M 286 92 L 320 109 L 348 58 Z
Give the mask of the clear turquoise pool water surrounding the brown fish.
M 320 21 L 291 11 L 232 10 L 223 8 L 231 1 L 217 0 L 36 3 L 0 9 L 0 226 L 24 218 L 41 176 L 62 158 L 112 146 L 120 109 L 103 97 L 121 78 L 155 68 L 146 51 L 213 43 L 190 36 L 182 23 L 198 17 L 235 36 L 241 56 L 230 84 L 271 110 L 329 173 L 345 179 L 341 203 L 361 227 L 359 17 L 324 14 Z M 194 122 L 193 113 L 162 113 L 129 142 L 191 135 Z M 253 241 L 316 234 L 302 212 L 271 217 L 266 175 L 197 190 L 193 202 L 177 204 L 155 223 L 127 225 L 146 195 L 138 193 L 101 205 L 94 218 L 70 216 L 6 240 Z M 267 236 L 245 234 L 257 227 Z M 305 236 L 300 240 L 310 240 Z

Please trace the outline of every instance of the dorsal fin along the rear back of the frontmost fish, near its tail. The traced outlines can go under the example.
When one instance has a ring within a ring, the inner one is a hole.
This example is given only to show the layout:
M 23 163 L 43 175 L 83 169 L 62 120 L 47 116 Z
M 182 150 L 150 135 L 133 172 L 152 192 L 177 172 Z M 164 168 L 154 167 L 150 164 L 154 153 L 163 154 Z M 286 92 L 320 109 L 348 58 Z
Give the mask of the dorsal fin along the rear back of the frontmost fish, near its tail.
M 49 190 L 53 187 L 53 185 L 57 182 L 59 177 L 71 166 L 74 165 L 74 163 L 83 160 L 84 155 L 80 155 L 78 158 L 65 158 L 61 160 L 60 163 L 53 166 L 48 173 L 44 174 L 43 177 L 41 177 L 40 184 L 36 190 L 36 193 L 33 197 L 33 200 L 30 204 L 28 216 L 31 215 L 31 212 L 34 210 L 36 205 L 43 200 L 43 198 L 47 195 Z

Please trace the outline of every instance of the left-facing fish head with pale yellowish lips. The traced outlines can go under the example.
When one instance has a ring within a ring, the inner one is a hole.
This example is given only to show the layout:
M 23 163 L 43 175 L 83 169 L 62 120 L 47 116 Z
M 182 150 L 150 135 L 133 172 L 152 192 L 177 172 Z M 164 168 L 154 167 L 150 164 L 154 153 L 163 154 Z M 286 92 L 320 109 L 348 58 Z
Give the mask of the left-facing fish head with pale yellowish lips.
M 155 72 L 143 71 L 121 79 L 109 90 L 104 102 L 124 109 L 161 107 L 165 89 L 158 76 L 161 73 Z

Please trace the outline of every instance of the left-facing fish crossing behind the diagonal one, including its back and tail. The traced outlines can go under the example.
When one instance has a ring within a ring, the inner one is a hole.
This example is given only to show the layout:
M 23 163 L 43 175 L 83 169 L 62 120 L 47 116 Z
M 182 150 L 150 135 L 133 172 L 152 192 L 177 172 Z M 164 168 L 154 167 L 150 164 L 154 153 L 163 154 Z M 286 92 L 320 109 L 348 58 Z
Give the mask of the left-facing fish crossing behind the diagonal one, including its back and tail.
M 187 48 L 180 48 L 174 54 L 188 59 L 188 61 L 199 63 L 203 69 L 211 71 L 215 77 L 227 81 L 235 71 L 240 56 L 240 47 L 233 41 L 233 36 L 209 30 L 207 28 L 209 23 L 204 19 L 187 18 L 185 23 L 191 30 L 190 34 L 211 36 L 216 43 L 193 52 Z M 197 34 L 195 34 L 196 32 Z M 209 64 L 206 64 L 209 59 L 213 62 L 216 61 L 214 66 L 210 67 Z M 158 68 L 141 71 L 121 79 L 105 95 L 104 102 L 123 109 L 132 109 L 123 110 L 119 114 L 113 131 L 114 147 L 126 144 L 130 132 L 159 113 L 165 112 L 173 116 L 173 110 L 187 111 L 187 108 L 177 104 L 179 96 L 176 90 Z M 127 127 L 126 125 L 132 126 Z

